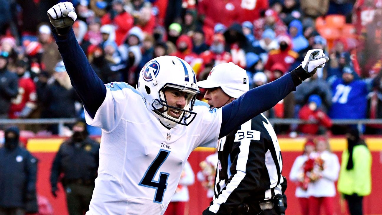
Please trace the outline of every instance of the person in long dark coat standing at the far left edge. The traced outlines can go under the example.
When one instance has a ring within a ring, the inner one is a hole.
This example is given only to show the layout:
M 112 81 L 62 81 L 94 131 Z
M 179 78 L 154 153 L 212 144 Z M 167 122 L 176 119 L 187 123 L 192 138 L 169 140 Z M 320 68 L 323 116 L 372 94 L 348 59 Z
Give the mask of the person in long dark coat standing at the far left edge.
M 4 137 L 0 147 L 0 215 L 37 212 L 37 160 L 19 146 L 17 127 L 6 129 Z

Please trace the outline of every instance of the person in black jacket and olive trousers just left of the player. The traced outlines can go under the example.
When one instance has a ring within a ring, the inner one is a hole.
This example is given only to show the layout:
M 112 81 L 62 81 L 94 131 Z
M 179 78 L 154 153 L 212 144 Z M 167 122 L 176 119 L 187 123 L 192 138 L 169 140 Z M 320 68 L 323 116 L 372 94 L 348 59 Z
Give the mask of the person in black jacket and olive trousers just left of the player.
M 99 143 L 88 137 L 84 122 L 76 122 L 72 137 L 62 143 L 55 156 L 50 175 L 54 197 L 60 179 L 70 215 L 83 215 L 89 210 L 98 165 Z

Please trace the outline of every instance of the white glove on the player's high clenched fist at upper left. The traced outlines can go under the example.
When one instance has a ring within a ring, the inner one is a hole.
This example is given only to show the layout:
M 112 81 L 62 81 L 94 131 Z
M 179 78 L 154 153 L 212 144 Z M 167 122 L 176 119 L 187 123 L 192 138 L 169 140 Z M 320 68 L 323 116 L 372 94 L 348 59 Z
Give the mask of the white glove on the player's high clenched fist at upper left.
M 67 28 L 73 25 L 77 19 L 73 4 L 70 2 L 60 2 L 48 10 L 50 23 L 56 28 Z

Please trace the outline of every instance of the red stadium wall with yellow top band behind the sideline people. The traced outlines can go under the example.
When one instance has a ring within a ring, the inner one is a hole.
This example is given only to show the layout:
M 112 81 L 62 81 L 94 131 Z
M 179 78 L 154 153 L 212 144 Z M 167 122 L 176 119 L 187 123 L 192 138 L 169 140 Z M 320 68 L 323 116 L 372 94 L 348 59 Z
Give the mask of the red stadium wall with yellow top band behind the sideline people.
M 38 177 L 37 177 L 37 192 L 39 195 L 47 197 L 50 204 L 53 206 L 55 215 L 68 215 L 66 209 L 65 193 L 62 187 L 59 187 L 58 197 L 55 199 L 50 194 L 50 168 L 62 138 L 56 139 L 30 139 L 28 141 L 28 149 L 32 151 L 39 159 L 38 164 Z M 288 178 L 290 169 L 295 158 L 301 154 L 303 138 L 280 138 L 280 147 L 283 156 L 283 175 Z M 380 186 L 379 179 L 382 178 L 382 137 L 380 138 L 367 138 L 366 142 L 371 149 L 373 163 L 372 163 L 372 192 L 371 195 L 364 199 L 364 213 L 368 215 L 382 215 L 382 204 L 380 193 L 382 193 L 382 186 Z M 346 146 L 344 138 L 330 139 L 332 150 L 341 161 L 341 153 Z M 194 173 L 196 174 L 200 168 L 199 163 L 203 161 L 213 151 L 209 148 L 198 148 L 193 151 L 189 156 L 189 163 L 191 164 Z M 298 202 L 295 198 L 295 184 L 288 183 L 286 194 L 288 196 L 288 215 L 300 214 Z M 189 215 L 200 215 L 202 211 L 209 205 L 206 197 L 206 191 L 201 184 L 195 180 L 195 184 L 189 187 L 190 202 L 189 202 Z M 340 198 L 337 194 L 334 200 L 335 213 L 338 215 L 347 214 L 346 204 L 340 204 Z

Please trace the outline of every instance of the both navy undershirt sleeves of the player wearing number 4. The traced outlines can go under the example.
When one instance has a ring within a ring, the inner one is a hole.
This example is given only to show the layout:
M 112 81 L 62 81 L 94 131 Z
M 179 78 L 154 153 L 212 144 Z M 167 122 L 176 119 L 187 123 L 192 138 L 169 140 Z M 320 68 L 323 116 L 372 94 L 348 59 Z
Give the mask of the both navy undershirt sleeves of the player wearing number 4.
M 95 113 L 106 97 L 106 87 L 95 74 L 86 55 L 79 46 L 73 30 L 66 35 L 53 33 L 58 50 L 62 56 L 71 83 L 83 101 L 86 111 L 94 118 Z M 222 126 L 219 138 L 272 108 L 291 91 L 295 91 L 301 81 L 295 74 L 288 73 L 283 77 L 249 90 L 238 99 L 222 108 Z

